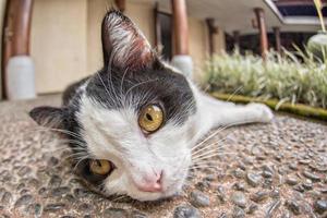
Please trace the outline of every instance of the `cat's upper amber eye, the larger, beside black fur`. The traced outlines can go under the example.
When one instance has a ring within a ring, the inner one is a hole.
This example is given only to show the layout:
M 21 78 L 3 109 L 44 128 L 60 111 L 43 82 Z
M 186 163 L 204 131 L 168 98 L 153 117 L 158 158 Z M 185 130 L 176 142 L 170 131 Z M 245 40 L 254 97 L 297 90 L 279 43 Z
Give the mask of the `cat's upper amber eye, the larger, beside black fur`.
M 159 106 L 149 105 L 145 107 L 138 117 L 138 124 L 145 132 L 157 131 L 164 122 L 164 112 Z

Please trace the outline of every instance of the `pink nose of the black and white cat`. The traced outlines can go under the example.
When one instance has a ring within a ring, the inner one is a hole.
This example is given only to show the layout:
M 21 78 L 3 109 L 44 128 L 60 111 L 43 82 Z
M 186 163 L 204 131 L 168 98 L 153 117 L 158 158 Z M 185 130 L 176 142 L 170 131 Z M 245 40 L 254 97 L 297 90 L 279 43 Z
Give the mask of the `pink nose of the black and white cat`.
M 142 192 L 161 192 L 162 191 L 162 171 L 159 173 L 146 174 L 141 183 L 135 183 Z

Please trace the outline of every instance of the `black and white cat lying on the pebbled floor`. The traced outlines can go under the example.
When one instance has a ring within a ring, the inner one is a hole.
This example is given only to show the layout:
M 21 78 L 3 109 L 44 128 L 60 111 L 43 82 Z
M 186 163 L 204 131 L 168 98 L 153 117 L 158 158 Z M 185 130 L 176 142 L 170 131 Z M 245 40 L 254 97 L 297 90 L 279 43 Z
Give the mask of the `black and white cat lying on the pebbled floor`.
M 29 116 L 66 133 L 77 173 L 106 196 L 170 197 L 185 182 L 192 147 L 213 128 L 274 117 L 264 105 L 202 93 L 118 11 L 106 13 L 101 43 L 102 69 L 69 86 L 61 107 L 37 107 Z

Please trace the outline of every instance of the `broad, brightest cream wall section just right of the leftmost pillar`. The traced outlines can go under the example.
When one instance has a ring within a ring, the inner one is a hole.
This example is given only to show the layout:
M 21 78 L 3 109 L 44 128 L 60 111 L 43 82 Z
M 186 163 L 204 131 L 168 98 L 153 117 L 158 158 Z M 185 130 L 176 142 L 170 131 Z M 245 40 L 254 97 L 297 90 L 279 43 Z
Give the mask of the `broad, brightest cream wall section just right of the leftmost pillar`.
M 31 56 L 37 93 L 56 93 L 84 77 L 87 0 L 35 0 Z

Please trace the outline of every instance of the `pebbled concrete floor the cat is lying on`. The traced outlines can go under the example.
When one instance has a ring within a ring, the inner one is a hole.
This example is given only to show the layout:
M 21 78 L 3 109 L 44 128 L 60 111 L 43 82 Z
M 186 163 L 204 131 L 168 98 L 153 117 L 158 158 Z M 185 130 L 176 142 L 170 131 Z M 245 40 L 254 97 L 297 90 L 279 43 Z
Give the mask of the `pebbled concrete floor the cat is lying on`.
M 140 203 L 84 187 L 64 143 L 28 118 L 40 105 L 60 98 L 0 102 L 0 217 L 327 217 L 326 123 L 277 114 L 220 131 L 204 145 L 218 143 L 218 155 L 190 172 L 182 193 Z

